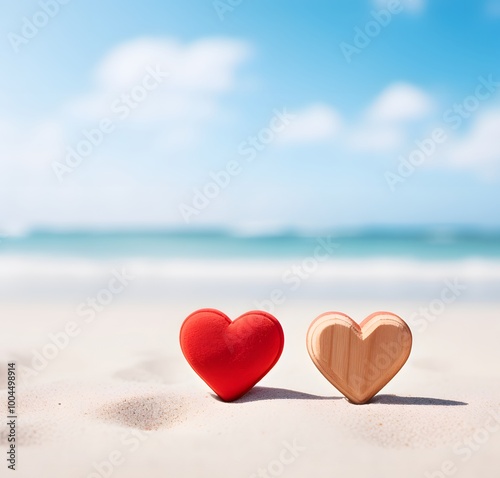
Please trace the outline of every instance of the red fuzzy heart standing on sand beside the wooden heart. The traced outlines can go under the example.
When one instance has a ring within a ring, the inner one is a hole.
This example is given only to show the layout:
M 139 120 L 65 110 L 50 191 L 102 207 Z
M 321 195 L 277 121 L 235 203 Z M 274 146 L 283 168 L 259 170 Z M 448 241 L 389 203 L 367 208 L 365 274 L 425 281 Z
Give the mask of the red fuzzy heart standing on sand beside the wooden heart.
M 251 311 L 234 322 L 219 310 L 193 312 L 182 324 L 182 353 L 224 401 L 248 392 L 281 356 L 283 329 L 271 314 Z

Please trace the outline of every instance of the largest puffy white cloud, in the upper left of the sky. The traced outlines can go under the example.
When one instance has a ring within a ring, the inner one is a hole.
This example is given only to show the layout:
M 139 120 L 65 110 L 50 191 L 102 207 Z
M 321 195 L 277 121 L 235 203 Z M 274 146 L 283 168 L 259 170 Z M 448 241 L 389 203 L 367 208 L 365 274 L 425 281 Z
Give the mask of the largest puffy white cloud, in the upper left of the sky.
M 149 69 L 168 72 L 130 119 L 192 120 L 216 114 L 217 99 L 237 84 L 237 68 L 248 58 L 247 44 L 229 39 L 202 39 L 181 44 L 173 39 L 143 38 L 119 45 L 94 72 L 95 88 L 76 99 L 70 111 L 98 120 L 110 116 L 113 102 L 141 85 Z

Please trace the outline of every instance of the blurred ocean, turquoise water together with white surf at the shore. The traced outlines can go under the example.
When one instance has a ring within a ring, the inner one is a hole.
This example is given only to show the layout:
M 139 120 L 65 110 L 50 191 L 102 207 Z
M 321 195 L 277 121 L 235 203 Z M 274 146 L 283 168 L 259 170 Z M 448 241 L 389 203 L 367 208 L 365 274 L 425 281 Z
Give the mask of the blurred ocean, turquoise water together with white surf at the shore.
M 78 298 L 113 271 L 126 296 L 432 300 L 450 281 L 463 297 L 500 298 L 500 232 L 420 229 L 294 232 L 49 232 L 3 236 L 0 299 Z M 254 300 L 258 303 L 258 300 Z

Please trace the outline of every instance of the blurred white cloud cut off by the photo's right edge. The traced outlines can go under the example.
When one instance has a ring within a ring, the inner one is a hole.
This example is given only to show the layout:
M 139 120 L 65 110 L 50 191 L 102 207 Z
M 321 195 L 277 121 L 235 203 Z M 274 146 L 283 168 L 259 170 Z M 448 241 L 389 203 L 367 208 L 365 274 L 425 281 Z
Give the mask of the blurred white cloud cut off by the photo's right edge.
M 500 110 L 479 114 L 469 133 L 451 146 L 452 166 L 491 171 L 500 166 Z

